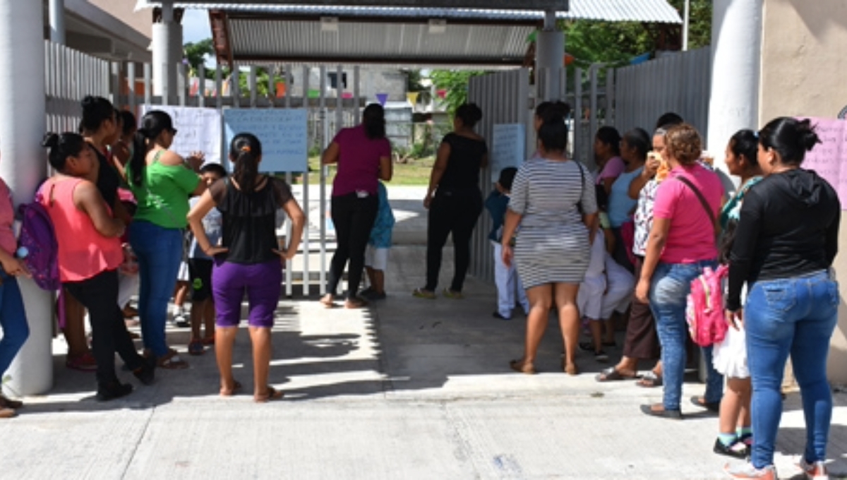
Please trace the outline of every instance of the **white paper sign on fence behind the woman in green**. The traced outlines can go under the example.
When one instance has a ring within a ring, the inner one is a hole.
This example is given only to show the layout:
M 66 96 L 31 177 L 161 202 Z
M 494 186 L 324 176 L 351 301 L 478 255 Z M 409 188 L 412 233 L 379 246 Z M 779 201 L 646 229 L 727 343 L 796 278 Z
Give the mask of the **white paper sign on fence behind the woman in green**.
M 150 110 L 162 110 L 170 115 L 174 129 L 174 144 L 170 150 L 188 157 L 191 152 L 203 152 L 208 163 L 221 163 L 220 112 L 214 108 L 174 107 L 170 105 L 141 105 L 143 116 Z M 141 117 L 139 117 L 139 125 Z

